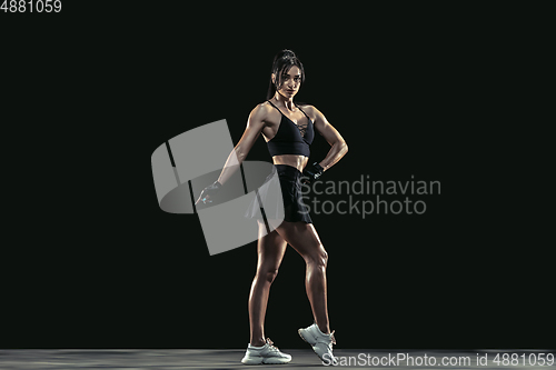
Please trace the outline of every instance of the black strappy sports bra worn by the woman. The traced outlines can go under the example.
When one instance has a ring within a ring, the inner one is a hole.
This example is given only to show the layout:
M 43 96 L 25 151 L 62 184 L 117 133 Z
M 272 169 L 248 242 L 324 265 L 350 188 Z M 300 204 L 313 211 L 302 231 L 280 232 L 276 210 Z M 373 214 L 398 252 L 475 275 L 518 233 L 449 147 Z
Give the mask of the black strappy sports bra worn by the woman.
M 275 104 L 268 100 L 268 102 L 276 109 Z M 301 111 L 297 104 L 296 107 Z M 312 143 L 315 138 L 315 131 L 312 129 L 312 121 L 305 112 L 307 117 L 307 124 L 296 124 L 289 118 L 287 118 L 281 110 L 280 124 L 278 126 L 278 131 L 272 137 L 272 139 L 267 141 L 268 151 L 270 156 L 281 156 L 281 154 L 298 154 L 298 156 L 310 156 L 309 146 Z

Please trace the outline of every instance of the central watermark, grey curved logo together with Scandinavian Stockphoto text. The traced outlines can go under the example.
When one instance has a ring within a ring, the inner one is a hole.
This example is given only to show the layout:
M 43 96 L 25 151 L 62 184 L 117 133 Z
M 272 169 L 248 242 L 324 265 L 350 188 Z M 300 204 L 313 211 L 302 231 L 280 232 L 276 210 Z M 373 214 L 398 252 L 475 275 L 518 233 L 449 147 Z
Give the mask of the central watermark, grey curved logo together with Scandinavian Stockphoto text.
M 281 189 L 271 171 L 272 163 L 240 164 L 226 120 L 167 140 L 153 151 L 151 164 L 160 209 L 197 214 L 211 256 L 250 243 L 284 220 Z M 218 179 L 225 166 L 232 174 L 219 192 L 218 201 L 195 206 L 196 197 Z M 272 181 L 267 181 L 269 173 Z M 296 199 L 301 212 L 360 214 L 365 219 L 369 214 L 423 214 L 427 211 L 426 197 L 440 194 L 440 181 L 424 181 L 413 174 L 405 181 L 383 181 L 361 174 L 355 181 L 301 183 L 300 191 L 301 197 Z M 259 197 L 259 192 L 265 197 Z M 397 199 L 399 196 L 405 198 Z M 256 214 L 247 217 L 252 212 L 246 210 L 252 209 Z M 266 231 L 260 230 L 257 221 L 264 218 L 262 212 L 272 214 Z

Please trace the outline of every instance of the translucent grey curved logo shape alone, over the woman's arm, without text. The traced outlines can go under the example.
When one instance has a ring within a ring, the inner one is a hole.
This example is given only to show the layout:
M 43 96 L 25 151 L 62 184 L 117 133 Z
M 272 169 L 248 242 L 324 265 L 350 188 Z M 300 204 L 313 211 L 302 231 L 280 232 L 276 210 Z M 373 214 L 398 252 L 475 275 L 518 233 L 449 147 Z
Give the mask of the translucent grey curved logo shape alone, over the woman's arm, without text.
M 284 210 L 276 206 L 281 206 L 280 187 L 272 186 L 279 183 L 277 180 L 265 186 L 264 199 L 257 197 L 272 163 L 242 161 L 239 164 L 226 120 L 169 139 L 155 150 L 151 166 L 160 209 L 169 213 L 197 214 L 210 256 L 250 243 L 275 229 L 276 224 L 269 223 L 266 232 L 260 230 L 257 222 L 260 214 L 245 217 L 251 204 L 275 211 L 275 222 L 284 219 Z M 225 167 L 232 174 L 217 201 L 195 206 L 202 189 L 217 180 Z M 261 212 L 258 208 L 256 211 Z

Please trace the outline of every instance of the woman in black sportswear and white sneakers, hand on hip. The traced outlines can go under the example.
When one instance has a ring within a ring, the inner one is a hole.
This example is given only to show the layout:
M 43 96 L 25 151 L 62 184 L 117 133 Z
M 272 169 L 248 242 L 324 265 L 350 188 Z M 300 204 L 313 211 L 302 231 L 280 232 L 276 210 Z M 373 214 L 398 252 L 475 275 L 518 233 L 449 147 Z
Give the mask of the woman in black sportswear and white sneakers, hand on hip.
M 291 360 L 289 354 L 274 347 L 269 338 L 265 340 L 264 331 L 270 284 L 278 273 L 287 244 L 301 254 L 306 262 L 305 283 L 315 317 L 312 326 L 298 330 L 299 336 L 311 344 L 322 361 L 334 359 L 332 343 L 336 341 L 328 322 L 326 292 L 328 254 L 304 207 L 300 181 L 302 177 L 318 179 L 346 154 L 348 148 L 317 108 L 294 102 L 304 80 L 304 67 L 296 54 L 290 50 L 279 52 L 272 64 L 268 100 L 251 111 L 244 136 L 228 158 L 230 163 L 236 163 L 236 158 L 241 163 L 259 134 L 262 134 L 272 156 L 284 198 L 284 222 L 267 233 L 266 224 L 259 221 L 257 273 L 249 296 L 250 342 L 241 360 L 247 364 L 286 363 Z M 326 139 L 330 150 L 324 160 L 306 167 L 315 131 Z M 205 188 L 197 202 L 210 202 L 210 197 L 231 176 L 231 168 L 237 166 L 226 166 L 218 180 Z M 272 220 L 268 222 L 272 223 Z

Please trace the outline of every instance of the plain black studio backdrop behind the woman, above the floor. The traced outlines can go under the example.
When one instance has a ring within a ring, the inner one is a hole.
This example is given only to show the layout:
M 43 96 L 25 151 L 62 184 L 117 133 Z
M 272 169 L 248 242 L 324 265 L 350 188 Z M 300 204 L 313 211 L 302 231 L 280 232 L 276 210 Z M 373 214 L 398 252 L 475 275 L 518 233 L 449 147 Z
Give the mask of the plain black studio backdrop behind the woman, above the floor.
M 209 257 L 197 216 L 160 210 L 150 156 L 219 119 L 237 142 L 284 48 L 306 68 L 296 99 L 349 144 L 325 180 L 441 182 L 421 216 L 312 214 L 338 348 L 549 346 L 548 223 L 510 190 L 526 141 L 506 99 L 516 44 L 527 52 L 518 19 L 407 3 L 72 7 L 0 16 L 17 179 L 2 347 L 247 346 L 256 242 Z M 326 152 L 317 136 L 310 161 Z M 262 139 L 248 160 L 269 160 Z M 312 323 L 304 276 L 288 249 L 266 319 L 281 348 L 305 348 L 296 330 Z

